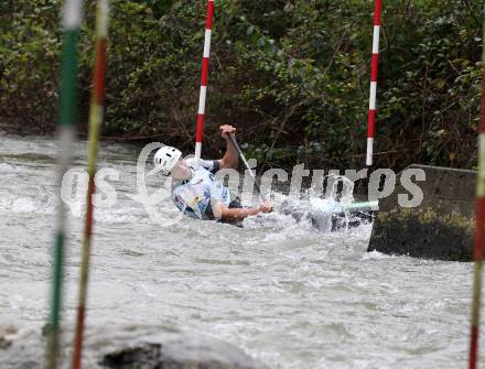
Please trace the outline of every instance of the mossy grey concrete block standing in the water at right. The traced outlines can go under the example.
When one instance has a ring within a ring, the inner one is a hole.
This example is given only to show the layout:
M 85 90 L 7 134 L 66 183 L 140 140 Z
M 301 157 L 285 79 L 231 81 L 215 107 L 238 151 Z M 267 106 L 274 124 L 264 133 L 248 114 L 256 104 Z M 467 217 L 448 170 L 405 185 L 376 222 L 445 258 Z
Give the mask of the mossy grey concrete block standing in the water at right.
M 416 208 L 398 205 L 398 194 L 408 193 L 400 185 L 399 173 L 392 195 L 379 202 L 367 251 L 471 261 L 476 172 L 416 164 L 408 169 L 425 173 L 425 181 L 417 182 L 423 202 Z

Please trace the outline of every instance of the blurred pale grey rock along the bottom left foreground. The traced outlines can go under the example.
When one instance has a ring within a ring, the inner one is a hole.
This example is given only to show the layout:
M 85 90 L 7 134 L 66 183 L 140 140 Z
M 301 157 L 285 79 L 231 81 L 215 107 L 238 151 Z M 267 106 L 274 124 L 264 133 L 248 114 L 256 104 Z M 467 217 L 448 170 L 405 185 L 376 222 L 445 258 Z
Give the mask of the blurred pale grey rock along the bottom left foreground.
M 45 337 L 40 330 L 2 330 L 0 327 L 2 365 L 6 365 L 6 368 L 43 368 Z M 72 332 L 65 332 L 63 337 L 64 340 L 71 341 Z M 67 367 L 69 358 L 71 347 L 65 345 L 61 367 Z M 139 325 L 116 329 L 88 329 L 83 363 L 85 368 L 116 369 L 266 368 L 241 349 L 219 339 L 168 327 Z

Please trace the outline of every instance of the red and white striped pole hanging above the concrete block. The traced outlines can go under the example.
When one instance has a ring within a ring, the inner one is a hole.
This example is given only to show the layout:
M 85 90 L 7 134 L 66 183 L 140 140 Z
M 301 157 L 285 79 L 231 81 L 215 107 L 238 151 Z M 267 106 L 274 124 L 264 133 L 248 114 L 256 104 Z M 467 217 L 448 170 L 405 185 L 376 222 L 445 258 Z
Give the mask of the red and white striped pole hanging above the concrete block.
M 377 67 L 379 64 L 379 34 L 380 34 L 381 8 L 382 8 L 382 0 L 376 0 L 375 10 L 374 10 L 373 62 L 370 66 L 369 116 L 367 120 L 367 155 L 366 155 L 367 166 L 373 165 L 374 128 L 376 126 Z

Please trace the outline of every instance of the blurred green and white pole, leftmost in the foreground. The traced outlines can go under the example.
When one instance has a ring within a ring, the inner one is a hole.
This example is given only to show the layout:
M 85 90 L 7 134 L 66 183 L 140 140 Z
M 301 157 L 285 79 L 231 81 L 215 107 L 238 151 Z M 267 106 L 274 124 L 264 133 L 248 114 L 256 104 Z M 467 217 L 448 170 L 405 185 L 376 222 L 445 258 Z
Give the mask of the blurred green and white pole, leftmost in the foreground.
M 63 56 L 61 74 L 61 102 L 58 112 L 60 153 L 57 170 L 58 211 L 54 239 L 53 285 L 50 329 L 47 335 L 46 368 L 58 367 L 61 345 L 61 310 L 64 248 L 66 242 L 66 205 L 61 199 L 64 173 L 71 165 L 71 148 L 75 138 L 77 119 L 77 39 L 82 19 L 83 1 L 66 0 L 63 14 Z

